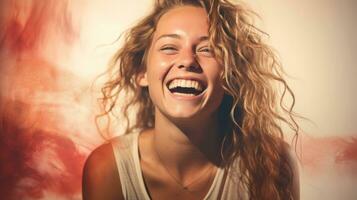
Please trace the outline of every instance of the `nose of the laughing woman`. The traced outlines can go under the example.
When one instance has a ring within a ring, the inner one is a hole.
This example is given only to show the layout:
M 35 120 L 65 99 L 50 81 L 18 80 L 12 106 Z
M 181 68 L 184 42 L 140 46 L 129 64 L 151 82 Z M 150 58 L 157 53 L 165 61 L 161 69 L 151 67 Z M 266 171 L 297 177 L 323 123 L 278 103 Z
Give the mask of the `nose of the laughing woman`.
M 177 67 L 179 69 L 185 68 L 192 72 L 202 71 L 197 55 L 193 50 L 181 51 L 180 56 L 177 58 Z

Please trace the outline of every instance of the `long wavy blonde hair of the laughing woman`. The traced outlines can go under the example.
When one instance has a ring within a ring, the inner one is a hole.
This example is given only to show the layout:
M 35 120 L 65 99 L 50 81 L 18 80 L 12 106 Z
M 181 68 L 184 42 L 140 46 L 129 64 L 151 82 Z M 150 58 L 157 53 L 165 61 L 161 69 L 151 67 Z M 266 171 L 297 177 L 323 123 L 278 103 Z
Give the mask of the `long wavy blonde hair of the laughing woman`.
M 224 166 L 228 168 L 240 158 L 240 178 L 250 199 L 292 199 L 293 172 L 284 159 L 280 123 L 288 124 L 297 138 L 299 126 L 292 111 L 295 97 L 283 79 L 275 53 L 263 42 L 266 34 L 253 25 L 256 15 L 242 4 L 228 0 L 157 0 L 152 12 L 126 33 L 123 46 L 111 61 L 110 79 L 100 99 L 103 113 L 98 119 L 106 117 L 110 126 L 110 113 L 125 94 L 126 101 L 120 101 L 127 122 L 125 134 L 153 128 L 154 105 L 137 78 L 145 70 L 160 17 L 183 5 L 206 10 L 209 42 L 215 58 L 224 66 L 221 78 L 226 94 L 219 108 L 220 122 L 227 127 L 221 148 Z M 281 94 L 278 88 L 283 88 Z M 283 104 L 287 94 L 292 99 L 290 106 Z M 129 116 L 133 109 L 137 111 L 135 120 Z

